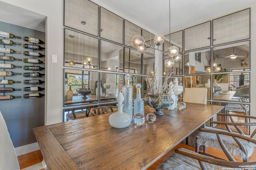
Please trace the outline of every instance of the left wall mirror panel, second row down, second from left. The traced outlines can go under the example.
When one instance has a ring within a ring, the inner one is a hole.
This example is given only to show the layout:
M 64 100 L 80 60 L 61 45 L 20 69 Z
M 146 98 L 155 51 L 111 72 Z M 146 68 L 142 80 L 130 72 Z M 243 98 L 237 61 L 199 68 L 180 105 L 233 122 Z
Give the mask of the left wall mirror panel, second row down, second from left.
M 123 46 L 100 40 L 100 70 L 118 71 Z M 121 54 L 121 56 L 120 56 Z

